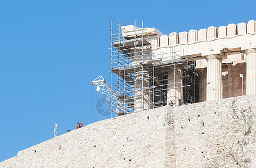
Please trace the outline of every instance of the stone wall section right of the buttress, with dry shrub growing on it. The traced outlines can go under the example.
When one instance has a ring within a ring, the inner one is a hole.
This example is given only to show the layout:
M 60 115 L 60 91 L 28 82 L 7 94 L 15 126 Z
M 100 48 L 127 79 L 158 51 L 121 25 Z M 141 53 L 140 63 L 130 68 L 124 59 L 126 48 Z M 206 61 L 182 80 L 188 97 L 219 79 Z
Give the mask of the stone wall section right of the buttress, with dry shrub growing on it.
M 174 108 L 176 167 L 256 167 L 255 102 L 249 95 Z

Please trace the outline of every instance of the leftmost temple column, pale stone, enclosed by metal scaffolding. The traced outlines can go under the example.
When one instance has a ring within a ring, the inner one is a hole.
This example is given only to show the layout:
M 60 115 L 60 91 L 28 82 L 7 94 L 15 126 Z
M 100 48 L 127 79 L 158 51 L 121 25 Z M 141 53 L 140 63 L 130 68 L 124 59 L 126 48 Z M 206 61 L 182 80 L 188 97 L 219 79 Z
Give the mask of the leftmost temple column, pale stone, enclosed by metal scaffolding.
M 149 79 L 148 74 L 144 72 L 136 72 L 134 83 L 134 112 L 149 110 Z

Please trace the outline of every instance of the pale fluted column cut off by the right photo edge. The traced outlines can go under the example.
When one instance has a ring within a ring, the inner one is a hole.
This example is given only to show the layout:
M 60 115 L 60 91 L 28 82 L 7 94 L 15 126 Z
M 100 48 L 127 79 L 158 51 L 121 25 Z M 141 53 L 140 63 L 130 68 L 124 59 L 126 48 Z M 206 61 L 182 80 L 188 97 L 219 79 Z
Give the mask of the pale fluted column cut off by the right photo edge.
M 246 64 L 246 95 L 256 94 L 256 49 L 245 50 Z

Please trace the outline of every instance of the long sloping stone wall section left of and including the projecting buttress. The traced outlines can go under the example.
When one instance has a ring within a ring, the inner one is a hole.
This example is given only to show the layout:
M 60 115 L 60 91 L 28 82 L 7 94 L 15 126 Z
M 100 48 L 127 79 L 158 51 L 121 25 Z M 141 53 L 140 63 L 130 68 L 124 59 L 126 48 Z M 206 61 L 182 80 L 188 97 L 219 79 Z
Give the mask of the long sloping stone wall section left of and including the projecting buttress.
M 165 124 L 171 111 L 165 106 L 86 125 L 20 151 L 0 167 L 173 167 L 174 131 Z

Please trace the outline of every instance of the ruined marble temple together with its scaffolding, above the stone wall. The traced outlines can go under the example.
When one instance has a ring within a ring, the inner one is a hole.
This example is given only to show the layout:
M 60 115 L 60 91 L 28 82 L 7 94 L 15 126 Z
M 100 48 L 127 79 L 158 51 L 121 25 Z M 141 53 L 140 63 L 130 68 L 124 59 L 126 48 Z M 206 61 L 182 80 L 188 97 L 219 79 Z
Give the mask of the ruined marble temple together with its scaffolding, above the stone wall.
M 256 93 L 253 20 L 169 35 L 111 21 L 112 87 L 131 113 Z

